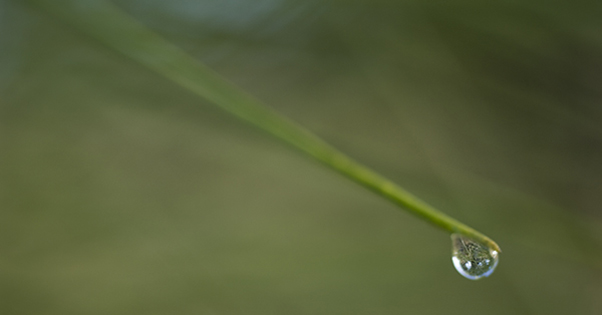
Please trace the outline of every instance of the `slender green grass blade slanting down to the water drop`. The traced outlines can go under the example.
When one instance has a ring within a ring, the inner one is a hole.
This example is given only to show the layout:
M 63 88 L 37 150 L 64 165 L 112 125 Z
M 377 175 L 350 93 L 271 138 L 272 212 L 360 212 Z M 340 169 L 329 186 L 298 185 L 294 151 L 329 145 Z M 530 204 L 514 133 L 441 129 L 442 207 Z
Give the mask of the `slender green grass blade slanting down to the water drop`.
M 450 233 L 464 234 L 500 251 L 489 237 L 429 206 L 303 127 L 280 116 L 112 4 L 78 0 L 30 2 L 427 222 Z

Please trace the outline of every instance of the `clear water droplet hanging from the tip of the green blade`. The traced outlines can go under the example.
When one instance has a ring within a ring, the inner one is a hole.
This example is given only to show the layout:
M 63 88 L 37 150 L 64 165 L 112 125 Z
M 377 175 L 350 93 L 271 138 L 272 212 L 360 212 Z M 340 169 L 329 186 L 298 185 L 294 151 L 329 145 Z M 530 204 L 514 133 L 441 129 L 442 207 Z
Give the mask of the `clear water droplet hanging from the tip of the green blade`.
M 452 234 L 452 262 L 467 279 L 477 280 L 493 273 L 499 253 L 470 237 Z

